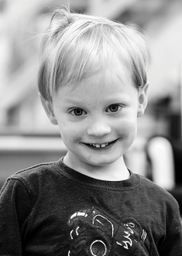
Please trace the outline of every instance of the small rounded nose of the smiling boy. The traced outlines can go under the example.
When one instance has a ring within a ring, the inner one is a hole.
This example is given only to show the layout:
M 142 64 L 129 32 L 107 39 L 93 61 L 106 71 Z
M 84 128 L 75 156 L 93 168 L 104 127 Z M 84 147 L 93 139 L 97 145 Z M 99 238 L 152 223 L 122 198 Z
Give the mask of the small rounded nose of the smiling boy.
M 91 125 L 89 125 L 87 133 L 90 136 L 94 137 L 103 137 L 106 134 L 109 134 L 111 132 L 111 126 L 103 124 L 101 122 L 96 122 Z

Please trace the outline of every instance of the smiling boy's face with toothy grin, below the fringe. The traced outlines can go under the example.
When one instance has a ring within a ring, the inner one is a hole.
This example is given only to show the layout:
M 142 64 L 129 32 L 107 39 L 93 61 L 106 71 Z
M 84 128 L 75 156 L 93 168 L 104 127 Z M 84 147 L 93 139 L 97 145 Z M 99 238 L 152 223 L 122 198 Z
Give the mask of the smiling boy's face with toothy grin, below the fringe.
M 53 101 L 54 116 L 71 166 L 105 166 L 118 160 L 134 142 L 137 116 L 145 109 L 145 90 L 134 87 L 131 74 L 122 79 L 109 69 L 60 87 Z M 48 112 L 48 111 L 47 111 Z

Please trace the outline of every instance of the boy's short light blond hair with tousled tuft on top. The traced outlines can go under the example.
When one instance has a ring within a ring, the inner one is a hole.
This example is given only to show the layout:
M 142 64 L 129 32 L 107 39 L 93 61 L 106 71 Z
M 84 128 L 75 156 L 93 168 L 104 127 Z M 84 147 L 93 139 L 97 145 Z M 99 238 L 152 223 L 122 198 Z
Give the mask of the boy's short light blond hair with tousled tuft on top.
M 110 67 L 111 60 L 132 68 L 134 84 L 142 88 L 151 61 L 146 43 L 145 33 L 137 26 L 71 13 L 68 7 L 57 9 L 43 37 L 38 90 L 45 100 L 52 101 L 60 86 L 79 84 Z

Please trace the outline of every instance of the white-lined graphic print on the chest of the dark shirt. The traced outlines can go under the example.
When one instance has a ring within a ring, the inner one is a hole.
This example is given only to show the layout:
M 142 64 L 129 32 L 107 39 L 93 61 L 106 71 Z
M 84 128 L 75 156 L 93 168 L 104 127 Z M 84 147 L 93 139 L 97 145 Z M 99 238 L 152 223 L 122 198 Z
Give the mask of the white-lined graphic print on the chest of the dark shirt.
M 116 221 L 93 207 L 72 214 L 68 225 L 71 228 L 68 256 L 149 255 L 147 233 L 134 218 Z

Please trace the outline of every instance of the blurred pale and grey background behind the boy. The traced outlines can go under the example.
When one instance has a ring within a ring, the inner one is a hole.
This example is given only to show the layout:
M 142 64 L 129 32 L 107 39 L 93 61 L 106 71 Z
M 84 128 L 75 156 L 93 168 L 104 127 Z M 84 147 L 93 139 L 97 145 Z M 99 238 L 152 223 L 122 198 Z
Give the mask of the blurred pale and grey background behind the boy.
M 0 185 L 14 172 L 65 154 L 37 95 L 41 34 L 61 0 L 0 0 Z M 152 52 L 150 89 L 128 168 L 182 201 L 182 1 L 71 0 L 71 9 L 141 26 Z M 182 207 L 181 207 L 182 209 Z

